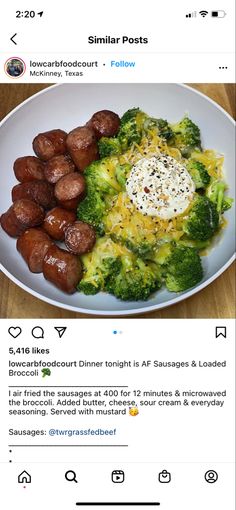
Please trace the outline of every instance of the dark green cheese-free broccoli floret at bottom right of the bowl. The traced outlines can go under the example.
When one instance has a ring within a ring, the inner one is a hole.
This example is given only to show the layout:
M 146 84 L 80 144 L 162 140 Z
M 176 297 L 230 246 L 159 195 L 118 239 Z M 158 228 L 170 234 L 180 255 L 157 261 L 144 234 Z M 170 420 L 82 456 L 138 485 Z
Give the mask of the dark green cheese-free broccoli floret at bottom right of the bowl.
M 164 279 L 170 292 L 181 292 L 201 281 L 203 269 L 195 248 L 176 246 L 167 258 Z

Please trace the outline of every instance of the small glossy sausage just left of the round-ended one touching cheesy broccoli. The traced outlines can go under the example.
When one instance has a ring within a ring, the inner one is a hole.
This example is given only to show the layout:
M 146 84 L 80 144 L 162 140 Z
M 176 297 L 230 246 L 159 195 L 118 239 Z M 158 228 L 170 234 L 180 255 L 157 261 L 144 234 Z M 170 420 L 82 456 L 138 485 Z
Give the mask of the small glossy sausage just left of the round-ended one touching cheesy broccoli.
M 53 239 L 63 241 L 65 238 L 66 229 L 74 223 L 76 214 L 72 211 L 66 211 L 62 207 L 54 207 L 49 211 L 43 223 L 43 229 Z

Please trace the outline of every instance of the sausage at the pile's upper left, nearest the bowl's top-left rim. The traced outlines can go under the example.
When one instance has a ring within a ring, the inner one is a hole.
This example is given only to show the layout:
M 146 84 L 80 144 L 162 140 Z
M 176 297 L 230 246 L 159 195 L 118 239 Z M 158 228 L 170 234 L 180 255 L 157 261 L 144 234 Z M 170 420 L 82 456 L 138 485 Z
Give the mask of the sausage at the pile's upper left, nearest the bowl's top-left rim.
M 67 133 L 61 129 L 52 129 L 39 133 L 33 140 L 33 149 L 40 159 L 48 161 L 54 156 L 65 154 Z

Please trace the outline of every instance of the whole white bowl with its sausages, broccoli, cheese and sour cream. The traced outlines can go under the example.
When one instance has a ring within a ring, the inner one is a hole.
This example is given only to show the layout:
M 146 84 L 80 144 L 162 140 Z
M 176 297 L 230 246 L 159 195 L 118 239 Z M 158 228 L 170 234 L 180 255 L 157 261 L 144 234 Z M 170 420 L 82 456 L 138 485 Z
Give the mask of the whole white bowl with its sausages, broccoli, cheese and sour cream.
M 192 87 L 44 87 L 0 165 L 4 282 L 65 317 L 171 317 L 234 260 L 234 121 Z

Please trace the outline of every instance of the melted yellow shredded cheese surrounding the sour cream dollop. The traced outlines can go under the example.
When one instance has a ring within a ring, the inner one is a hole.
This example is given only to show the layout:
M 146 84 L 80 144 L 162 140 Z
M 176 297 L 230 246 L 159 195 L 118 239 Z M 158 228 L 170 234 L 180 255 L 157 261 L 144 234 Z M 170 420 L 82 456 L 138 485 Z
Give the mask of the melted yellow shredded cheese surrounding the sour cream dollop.
M 159 137 L 156 130 L 149 130 L 147 136 L 141 140 L 140 145 L 134 143 L 128 151 L 118 156 L 121 165 L 129 163 L 135 165 L 141 158 L 151 158 L 157 154 L 165 154 L 175 158 L 180 163 L 186 163 L 181 152 L 175 147 L 169 147 L 166 141 Z M 214 150 L 194 152 L 191 158 L 202 162 L 209 174 L 215 178 L 222 178 L 224 157 Z M 156 241 L 168 238 L 178 241 L 183 235 L 183 222 L 191 208 L 185 210 L 182 215 L 171 220 L 158 217 L 143 216 L 131 203 L 126 192 L 119 193 L 111 211 L 104 218 L 105 229 L 108 235 L 120 236 L 122 230 L 128 230 L 133 239 L 142 235 L 147 241 Z

